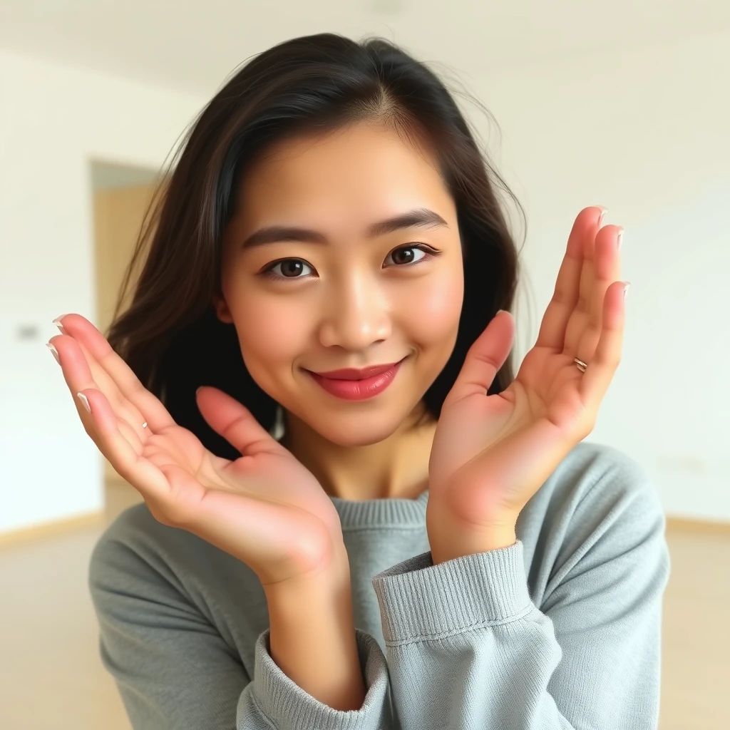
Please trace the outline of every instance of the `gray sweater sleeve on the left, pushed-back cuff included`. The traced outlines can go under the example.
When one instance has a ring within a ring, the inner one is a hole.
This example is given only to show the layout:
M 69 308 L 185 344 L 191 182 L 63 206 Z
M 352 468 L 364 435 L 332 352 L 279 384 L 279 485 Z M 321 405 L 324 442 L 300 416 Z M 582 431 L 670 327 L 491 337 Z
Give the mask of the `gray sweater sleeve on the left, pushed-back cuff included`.
M 134 730 L 380 730 L 390 728 L 383 651 L 356 629 L 366 697 L 334 710 L 284 674 L 269 654 L 269 629 L 255 644 L 253 681 L 220 631 L 130 545 L 102 538 L 89 585 L 99 650 Z M 245 607 L 241 607 L 245 610 Z

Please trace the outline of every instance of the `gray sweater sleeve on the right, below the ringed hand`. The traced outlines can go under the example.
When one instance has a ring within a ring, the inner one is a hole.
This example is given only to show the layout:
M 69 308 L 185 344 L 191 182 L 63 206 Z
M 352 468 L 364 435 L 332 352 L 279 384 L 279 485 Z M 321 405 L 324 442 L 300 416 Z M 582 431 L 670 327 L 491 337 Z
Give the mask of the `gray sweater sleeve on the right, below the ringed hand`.
M 615 496 L 582 500 L 539 606 L 519 539 L 373 578 L 402 730 L 656 728 L 664 513 L 646 484 L 594 488 Z

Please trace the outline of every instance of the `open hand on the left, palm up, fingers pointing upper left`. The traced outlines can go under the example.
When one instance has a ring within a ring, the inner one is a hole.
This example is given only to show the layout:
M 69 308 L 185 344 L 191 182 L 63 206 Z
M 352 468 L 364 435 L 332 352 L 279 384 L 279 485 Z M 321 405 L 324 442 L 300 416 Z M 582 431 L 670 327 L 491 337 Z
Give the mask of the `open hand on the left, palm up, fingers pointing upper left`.
M 174 422 L 91 322 L 69 314 L 60 328 L 49 346 L 86 433 L 159 522 L 226 550 L 264 586 L 328 568 L 342 542 L 334 504 L 242 404 L 207 386 L 196 396 L 211 428 L 242 453 L 229 461 Z

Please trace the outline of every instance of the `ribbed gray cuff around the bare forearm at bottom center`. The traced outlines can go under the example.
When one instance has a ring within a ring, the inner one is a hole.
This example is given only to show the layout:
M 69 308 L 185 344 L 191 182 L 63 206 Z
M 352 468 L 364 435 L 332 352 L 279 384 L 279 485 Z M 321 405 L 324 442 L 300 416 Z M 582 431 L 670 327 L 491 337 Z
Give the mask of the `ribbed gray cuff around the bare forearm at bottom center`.
M 334 710 L 305 692 L 273 660 L 266 629 L 256 641 L 253 699 L 273 727 L 280 730 L 379 730 L 390 727 L 388 666 L 377 641 L 355 629 L 365 701 L 359 710 Z

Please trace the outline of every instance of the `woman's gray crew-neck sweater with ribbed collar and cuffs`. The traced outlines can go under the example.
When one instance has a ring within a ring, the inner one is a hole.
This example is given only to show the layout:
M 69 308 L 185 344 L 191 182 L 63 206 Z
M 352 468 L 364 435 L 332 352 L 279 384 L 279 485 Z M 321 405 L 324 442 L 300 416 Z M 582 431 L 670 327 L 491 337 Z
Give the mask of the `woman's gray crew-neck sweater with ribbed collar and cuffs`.
M 134 730 L 648 730 L 657 725 L 664 513 L 636 461 L 581 442 L 512 547 L 431 562 L 428 492 L 333 497 L 366 697 L 334 710 L 269 654 L 261 584 L 146 504 L 97 542 L 104 666 Z

